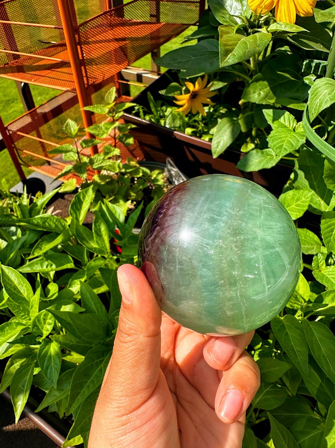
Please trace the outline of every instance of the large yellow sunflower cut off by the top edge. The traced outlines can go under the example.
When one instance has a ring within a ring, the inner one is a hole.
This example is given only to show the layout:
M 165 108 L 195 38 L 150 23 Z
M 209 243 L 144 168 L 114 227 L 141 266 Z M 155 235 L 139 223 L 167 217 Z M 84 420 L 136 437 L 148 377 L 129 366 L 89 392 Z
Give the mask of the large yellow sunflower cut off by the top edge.
M 296 14 L 302 17 L 313 16 L 312 8 L 317 0 L 249 0 L 251 11 L 266 14 L 273 8 L 278 22 L 295 23 Z

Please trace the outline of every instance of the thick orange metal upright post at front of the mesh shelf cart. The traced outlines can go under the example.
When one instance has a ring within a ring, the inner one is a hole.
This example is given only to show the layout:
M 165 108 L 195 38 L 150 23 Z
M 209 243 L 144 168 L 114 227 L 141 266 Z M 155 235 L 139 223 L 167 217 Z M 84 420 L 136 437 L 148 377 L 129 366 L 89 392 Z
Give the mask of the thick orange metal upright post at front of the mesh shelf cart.
M 80 65 L 80 59 L 76 43 L 76 35 L 74 32 L 74 26 L 71 21 L 71 12 L 69 8 L 68 0 L 58 0 L 58 6 L 60 10 L 61 23 L 63 24 L 63 32 L 66 42 L 67 51 L 69 53 L 70 64 L 73 72 L 73 77 L 76 85 L 76 92 L 78 102 L 81 110 L 81 116 L 83 119 L 84 127 L 87 129 L 92 124 L 91 112 L 85 111 L 84 107 L 89 105 L 86 87 L 83 78 L 83 72 Z M 87 138 L 92 138 L 92 135 L 86 131 Z M 91 147 L 91 155 L 98 153 L 98 147 Z

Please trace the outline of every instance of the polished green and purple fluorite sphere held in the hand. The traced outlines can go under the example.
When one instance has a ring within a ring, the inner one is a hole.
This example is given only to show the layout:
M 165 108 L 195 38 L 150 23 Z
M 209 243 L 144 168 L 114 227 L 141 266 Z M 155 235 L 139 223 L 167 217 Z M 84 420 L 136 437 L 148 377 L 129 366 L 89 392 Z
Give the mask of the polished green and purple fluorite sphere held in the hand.
M 223 174 L 169 190 L 139 239 L 139 262 L 162 310 L 204 334 L 269 322 L 291 297 L 301 259 L 282 204 L 256 183 Z

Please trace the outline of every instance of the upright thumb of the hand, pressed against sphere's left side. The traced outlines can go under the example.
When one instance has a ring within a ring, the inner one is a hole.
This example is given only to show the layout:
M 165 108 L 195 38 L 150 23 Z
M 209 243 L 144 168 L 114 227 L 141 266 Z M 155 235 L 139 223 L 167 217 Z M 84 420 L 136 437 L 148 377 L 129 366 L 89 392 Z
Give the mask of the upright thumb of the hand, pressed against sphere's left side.
M 140 269 L 120 266 L 118 281 L 122 305 L 106 382 L 113 383 L 119 398 L 131 397 L 136 407 L 152 393 L 158 379 L 162 313 Z

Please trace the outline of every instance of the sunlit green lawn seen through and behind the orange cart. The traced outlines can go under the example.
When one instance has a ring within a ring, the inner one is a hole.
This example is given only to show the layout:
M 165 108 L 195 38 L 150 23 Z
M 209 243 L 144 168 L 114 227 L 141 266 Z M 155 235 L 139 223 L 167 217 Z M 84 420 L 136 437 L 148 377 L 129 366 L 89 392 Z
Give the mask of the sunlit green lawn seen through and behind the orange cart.
M 170 42 L 164 44 L 161 47 L 161 55 L 180 47 L 184 37 L 193 33 L 195 29 L 195 27 L 190 27 Z M 190 43 L 186 43 L 185 45 L 193 43 L 194 42 L 192 41 Z M 133 66 L 151 69 L 151 55 L 148 54 L 144 56 L 133 64 Z M 30 85 L 30 89 L 36 106 L 39 106 L 60 93 L 58 90 L 40 87 L 37 85 Z M 141 87 L 131 86 L 131 95 L 135 96 L 141 90 Z M 24 109 L 15 81 L 0 78 L 0 116 L 3 122 L 7 124 L 22 114 L 24 114 Z M 31 173 L 29 169 L 24 169 L 24 171 L 27 175 Z M 7 149 L 0 152 L 0 182 L 2 179 L 7 182 L 9 187 L 16 185 L 16 183 L 20 181 Z

